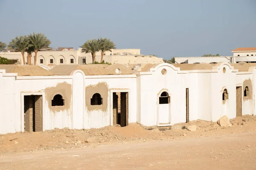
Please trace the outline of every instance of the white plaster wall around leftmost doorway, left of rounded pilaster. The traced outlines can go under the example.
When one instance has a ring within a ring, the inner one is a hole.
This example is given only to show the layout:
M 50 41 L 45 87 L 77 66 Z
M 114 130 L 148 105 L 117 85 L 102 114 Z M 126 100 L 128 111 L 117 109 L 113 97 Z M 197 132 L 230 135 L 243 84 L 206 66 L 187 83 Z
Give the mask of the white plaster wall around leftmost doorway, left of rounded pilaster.
M 19 79 L 20 78 L 20 79 Z M 23 94 L 32 93 L 32 92 L 44 92 L 45 88 L 55 87 L 58 83 L 67 82 L 72 85 L 72 79 L 65 78 L 58 79 L 60 76 L 52 77 L 51 79 L 45 79 L 44 77 L 18 77 L 16 80 L 16 101 L 17 101 L 17 131 L 21 131 L 20 124 L 20 114 L 22 115 L 24 111 L 21 111 L 21 92 Z M 26 94 L 25 94 L 26 95 Z M 36 95 L 36 94 L 35 94 Z M 70 96 L 72 101 L 72 94 Z M 49 109 L 48 101 L 44 99 L 43 103 L 43 130 L 52 130 L 55 127 L 64 128 L 69 127 L 72 128 L 72 103 L 70 104 L 70 109 L 53 112 Z M 66 102 L 67 100 L 65 100 Z

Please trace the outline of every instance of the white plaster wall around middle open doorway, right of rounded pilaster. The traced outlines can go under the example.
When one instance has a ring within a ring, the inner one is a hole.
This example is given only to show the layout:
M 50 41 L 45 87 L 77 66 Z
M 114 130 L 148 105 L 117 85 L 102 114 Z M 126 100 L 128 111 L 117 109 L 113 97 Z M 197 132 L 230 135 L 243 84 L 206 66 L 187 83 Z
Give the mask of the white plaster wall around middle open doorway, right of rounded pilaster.
M 128 76 L 128 77 L 127 77 Z M 111 77 L 111 78 L 110 78 Z M 130 91 L 128 94 L 129 101 L 129 123 L 137 122 L 137 91 L 136 91 L 136 77 L 129 75 L 112 75 L 112 76 L 87 76 L 85 78 L 85 87 L 88 85 L 97 85 L 100 82 L 105 82 L 108 85 L 108 109 L 106 112 L 102 110 L 88 111 L 84 108 L 84 128 L 100 128 L 111 125 L 111 110 L 110 110 L 110 93 L 111 89 L 127 89 Z M 86 95 L 86 94 L 85 94 Z M 84 96 L 85 98 L 85 96 Z M 84 102 L 85 103 L 85 102 Z

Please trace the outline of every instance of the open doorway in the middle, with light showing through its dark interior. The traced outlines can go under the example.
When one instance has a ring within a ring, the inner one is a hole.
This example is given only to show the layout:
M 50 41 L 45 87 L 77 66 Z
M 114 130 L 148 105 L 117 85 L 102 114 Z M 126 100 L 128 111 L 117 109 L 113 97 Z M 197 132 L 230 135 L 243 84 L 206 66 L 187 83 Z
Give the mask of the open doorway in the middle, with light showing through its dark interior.
M 128 92 L 113 92 L 113 125 L 128 125 Z

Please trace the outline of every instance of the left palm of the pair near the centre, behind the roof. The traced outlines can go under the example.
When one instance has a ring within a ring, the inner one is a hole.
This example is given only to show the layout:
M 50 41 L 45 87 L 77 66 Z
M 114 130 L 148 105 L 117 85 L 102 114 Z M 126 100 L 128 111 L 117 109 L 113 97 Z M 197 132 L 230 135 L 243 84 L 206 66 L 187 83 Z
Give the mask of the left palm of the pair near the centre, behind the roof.
M 82 53 L 91 53 L 93 56 L 93 62 L 95 61 L 96 52 L 98 52 L 100 49 L 100 42 L 99 40 L 93 39 L 93 40 L 87 40 L 87 42 L 84 42 L 82 46 L 81 52 Z

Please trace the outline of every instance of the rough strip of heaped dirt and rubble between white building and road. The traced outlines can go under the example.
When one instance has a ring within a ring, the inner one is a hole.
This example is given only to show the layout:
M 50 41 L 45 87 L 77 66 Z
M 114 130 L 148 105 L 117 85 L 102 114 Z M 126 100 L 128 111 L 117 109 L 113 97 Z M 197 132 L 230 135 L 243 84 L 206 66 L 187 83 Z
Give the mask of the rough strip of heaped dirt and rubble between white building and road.
M 101 144 L 146 142 L 210 136 L 216 134 L 240 133 L 254 130 L 256 116 L 241 116 L 230 120 L 232 127 L 220 127 L 216 122 L 203 120 L 180 123 L 172 127 L 142 127 L 130 124 L 126 127 L 108 126 L 90 130 L 54 129 L 46 132 L 8 133 L 0 135 L 0 153 L 40 150 L 64 150 L 75 147 L 93 147 Z M 196 125 L 196 131 L 189 131 L 189 125 Z M 245 125 L 245 126 L 244 126 Z M 243 127 L 243 128 L 241 128 Z

